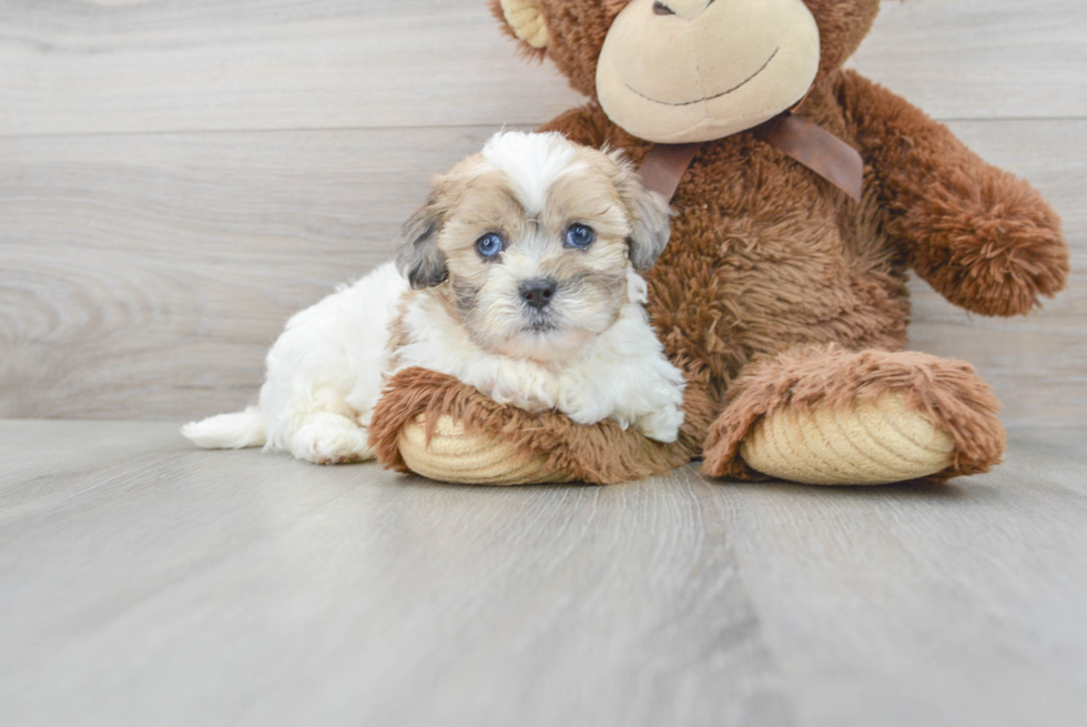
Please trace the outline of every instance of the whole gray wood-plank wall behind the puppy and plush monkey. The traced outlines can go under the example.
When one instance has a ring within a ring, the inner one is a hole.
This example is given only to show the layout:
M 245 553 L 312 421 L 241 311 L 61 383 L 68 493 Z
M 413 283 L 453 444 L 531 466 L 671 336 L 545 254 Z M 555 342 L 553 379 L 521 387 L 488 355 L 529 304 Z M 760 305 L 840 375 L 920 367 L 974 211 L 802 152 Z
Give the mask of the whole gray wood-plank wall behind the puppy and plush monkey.
M 484 0 L 0 0 L 0 417 L 189 418 L 386 259 L 427 179 L 581 100 Z M 1025 320 L 912 285 L 914 347 L 1009 422 L 1087 422 L 1087 4 L 887 2 L 853 64 L 1029 179 L 1070 290 Z

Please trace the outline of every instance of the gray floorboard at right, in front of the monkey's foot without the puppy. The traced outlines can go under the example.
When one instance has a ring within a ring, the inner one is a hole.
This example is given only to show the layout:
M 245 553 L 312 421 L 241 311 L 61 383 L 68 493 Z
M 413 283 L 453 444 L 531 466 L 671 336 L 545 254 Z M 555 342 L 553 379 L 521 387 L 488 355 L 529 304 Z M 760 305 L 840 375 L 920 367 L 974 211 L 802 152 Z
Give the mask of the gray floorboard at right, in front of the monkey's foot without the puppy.
M 1087 724 L 1087 431 L 927 487 L 719 502 L 802 725 Z

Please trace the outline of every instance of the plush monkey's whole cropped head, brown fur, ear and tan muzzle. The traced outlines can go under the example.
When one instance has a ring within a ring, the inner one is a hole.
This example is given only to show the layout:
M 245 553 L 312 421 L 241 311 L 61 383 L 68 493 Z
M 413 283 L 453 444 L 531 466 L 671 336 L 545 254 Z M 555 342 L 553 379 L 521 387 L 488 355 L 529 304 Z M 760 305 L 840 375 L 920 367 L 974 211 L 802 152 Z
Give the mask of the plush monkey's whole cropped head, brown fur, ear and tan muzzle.
M 709 141 L 796 104 L 844 63 L 880 0 L 492 0 L 613 122 L 648 141 Z

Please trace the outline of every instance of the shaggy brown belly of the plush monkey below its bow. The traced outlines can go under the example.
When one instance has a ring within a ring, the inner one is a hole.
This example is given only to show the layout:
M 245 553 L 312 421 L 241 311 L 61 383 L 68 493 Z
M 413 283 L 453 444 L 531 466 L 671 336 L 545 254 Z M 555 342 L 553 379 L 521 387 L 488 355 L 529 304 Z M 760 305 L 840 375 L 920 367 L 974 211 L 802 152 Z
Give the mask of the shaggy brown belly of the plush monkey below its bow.
M 905 345 L 905 261 L 874 215 L 807 169 L 749 134 L 711 142 L 672 208 L 649 310 L 693 380 L 722 394 L 761 354 Z

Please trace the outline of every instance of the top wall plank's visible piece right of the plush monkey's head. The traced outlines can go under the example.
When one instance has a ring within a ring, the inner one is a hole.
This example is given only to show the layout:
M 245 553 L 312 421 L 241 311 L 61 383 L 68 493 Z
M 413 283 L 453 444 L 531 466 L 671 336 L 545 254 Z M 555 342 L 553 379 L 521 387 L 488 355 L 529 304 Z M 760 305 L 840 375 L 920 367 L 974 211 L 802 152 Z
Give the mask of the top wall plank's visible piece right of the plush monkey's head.
M 937 119 L 1087 115 L 1079 0 L 885 1 L 852 65 Z

